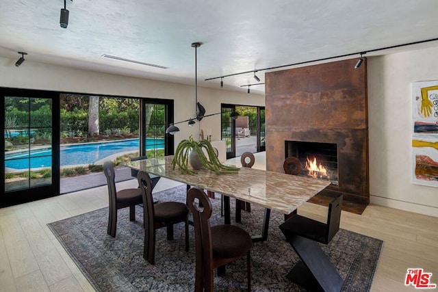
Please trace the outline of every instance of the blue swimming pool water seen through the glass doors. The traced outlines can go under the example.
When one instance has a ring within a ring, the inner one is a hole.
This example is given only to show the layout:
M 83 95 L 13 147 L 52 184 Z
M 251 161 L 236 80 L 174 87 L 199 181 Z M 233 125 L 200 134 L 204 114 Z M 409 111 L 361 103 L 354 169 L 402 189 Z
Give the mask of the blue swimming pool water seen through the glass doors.
M 140 140 L 123 140 L 113 142 L 88 143 L 61 146 L 60 165 L 92 164 L 110 155 L 136 151 L 140 148 Z M 164 148 L 164 139 L 146 139 L 146 149 Z M 23 170 L 29 168 L 44 168 L 51 165 L 51 150 L 49 148 L 19 152 L 5 155 L 5 167 Z

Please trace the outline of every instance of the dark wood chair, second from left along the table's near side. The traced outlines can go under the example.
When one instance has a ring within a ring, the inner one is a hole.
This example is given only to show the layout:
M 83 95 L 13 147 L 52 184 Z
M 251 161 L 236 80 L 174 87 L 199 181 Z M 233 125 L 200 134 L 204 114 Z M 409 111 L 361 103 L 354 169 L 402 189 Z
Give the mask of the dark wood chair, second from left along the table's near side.
M 138 185 L 142 191 L 144 210 L 144 250 L 143 258 L 149 263 L 155 263 L 155 230 L 167 227 L 167 239 L 173 240 L 173 225 L 185 224 L 185 251 L 189 250 L 189 209 L 181 202 L 161 202 L 154 204 L 153 183 L 147 172 L 138 172 Z

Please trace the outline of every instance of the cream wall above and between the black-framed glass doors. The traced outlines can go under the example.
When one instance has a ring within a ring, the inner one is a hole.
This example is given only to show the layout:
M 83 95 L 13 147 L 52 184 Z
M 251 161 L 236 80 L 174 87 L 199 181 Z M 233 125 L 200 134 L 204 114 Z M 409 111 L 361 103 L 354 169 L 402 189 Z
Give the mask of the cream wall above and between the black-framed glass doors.
M 198 80 L 198 102 L 205 107 L 205 114 L 220 112 L 221 103 L 265 105 L 264 95 L 247 94 L 244 89 L 242 92 L 231 92 L 219 86 L 217 90 L 200 88 L 199 83 Z M 29 60 L 16 68 L 14 60 L 0 57 L 0 87 L 173 99 L 175 122 L 195 115 L 194 85 L 77 70 Z M 220 140 L 220 115 L 204 118 L 194 127 L 188 127 L 187 123 L 177 126 L 181 131 L 175 134 L 175 147 L 189 135 L 197 140 L 200 129 L 204 132 L 211 129 L 213 140 Z

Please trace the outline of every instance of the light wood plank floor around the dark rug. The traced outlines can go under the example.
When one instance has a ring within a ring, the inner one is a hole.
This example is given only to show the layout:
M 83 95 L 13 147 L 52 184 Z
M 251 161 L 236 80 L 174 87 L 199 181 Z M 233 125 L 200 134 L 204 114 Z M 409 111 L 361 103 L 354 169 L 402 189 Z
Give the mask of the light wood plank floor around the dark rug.
M 176 185 L 162 178 L 154 191 Z M 118 183 L 136 186 L 136 180 Z M 0 291 L 94 291 L 46 224 L 107 205 L 103 186 L 0 209 Z M 306 203 L 298 213 L 324 220 L 326 211 Z M 362 215 L 342 211 L 341 227 L 385 241 L 372 291 L 418 291 L 404 286 L 412 267 L 433 273 L 438 283 L 437 217 L 370 205 Z

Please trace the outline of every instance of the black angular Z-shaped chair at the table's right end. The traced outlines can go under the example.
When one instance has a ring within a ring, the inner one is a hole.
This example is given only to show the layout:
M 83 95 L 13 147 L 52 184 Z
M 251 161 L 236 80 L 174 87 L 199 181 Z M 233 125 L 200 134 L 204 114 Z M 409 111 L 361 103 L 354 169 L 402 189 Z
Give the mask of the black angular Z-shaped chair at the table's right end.
M 317 243 L 328 244 L 339 230 L 342 198 L 341 195 L 330 202 L 326 223 L 294 214 L 280 225 L 287 241 L 301 259 L 287 274 L 287 278 L 311 291 L 342 289 L 342 278 Z

